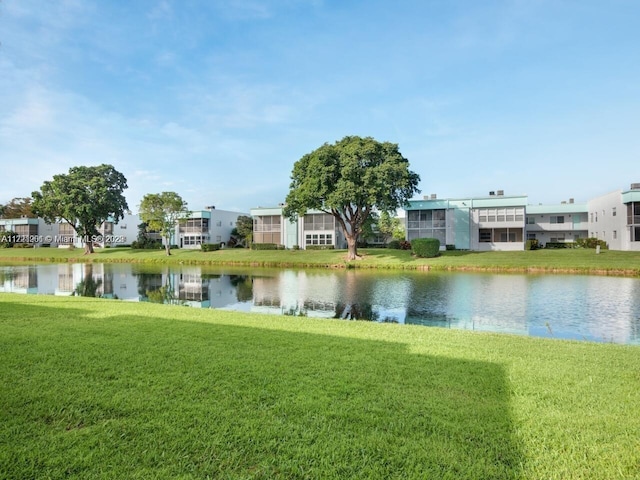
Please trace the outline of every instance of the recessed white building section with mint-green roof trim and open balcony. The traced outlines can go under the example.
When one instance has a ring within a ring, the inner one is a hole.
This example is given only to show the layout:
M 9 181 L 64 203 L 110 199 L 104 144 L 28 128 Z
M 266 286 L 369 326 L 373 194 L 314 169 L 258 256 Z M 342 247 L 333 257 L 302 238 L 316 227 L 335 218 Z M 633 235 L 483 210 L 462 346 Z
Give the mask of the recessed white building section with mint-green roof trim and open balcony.
M 579 238 L 587 238 L 587 205 L 529 205 L 526 231 L 527 239 L 536 239 L 541 246 L 550 242 L 571 243 Z

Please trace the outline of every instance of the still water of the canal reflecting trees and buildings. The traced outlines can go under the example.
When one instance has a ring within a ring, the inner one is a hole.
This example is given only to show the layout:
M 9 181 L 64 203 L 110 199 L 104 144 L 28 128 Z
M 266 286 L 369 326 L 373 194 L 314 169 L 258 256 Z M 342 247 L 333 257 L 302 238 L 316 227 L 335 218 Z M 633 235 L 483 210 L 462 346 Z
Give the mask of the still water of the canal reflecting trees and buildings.
M 640 344 L 640 279 L 586 275 L 0 266 L 0 292 Z

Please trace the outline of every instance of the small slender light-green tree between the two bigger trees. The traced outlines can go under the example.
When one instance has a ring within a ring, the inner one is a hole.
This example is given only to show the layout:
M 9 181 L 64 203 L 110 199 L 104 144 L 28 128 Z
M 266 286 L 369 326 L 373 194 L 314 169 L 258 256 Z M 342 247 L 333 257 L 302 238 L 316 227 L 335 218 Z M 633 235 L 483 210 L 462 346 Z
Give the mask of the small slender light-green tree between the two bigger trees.
M 148 193 L 140 203 L 140 218 L 160 232 L 167 255 L 171 255 L 171 237 L 178 221 L 188 216 L 187 203 L 175 192 Z

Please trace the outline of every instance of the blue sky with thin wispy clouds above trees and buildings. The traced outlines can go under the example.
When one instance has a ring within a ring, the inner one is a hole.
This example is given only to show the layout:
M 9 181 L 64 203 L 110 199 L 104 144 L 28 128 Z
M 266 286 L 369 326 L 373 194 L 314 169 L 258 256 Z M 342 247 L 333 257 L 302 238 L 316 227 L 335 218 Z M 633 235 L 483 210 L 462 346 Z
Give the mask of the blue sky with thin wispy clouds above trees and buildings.
M 109 163 L 191 209 L 282 202 L 346 135 L 422 194 L 576 202 L 640 182 L 636 0 L 3 0 L 0 203 Z

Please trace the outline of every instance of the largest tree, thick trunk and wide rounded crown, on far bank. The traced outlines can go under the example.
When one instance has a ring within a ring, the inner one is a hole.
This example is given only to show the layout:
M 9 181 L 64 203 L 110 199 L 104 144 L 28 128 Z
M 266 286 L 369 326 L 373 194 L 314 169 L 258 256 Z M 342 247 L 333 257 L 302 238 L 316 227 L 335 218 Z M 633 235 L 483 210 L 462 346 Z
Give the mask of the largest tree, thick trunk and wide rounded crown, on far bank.
M 307 210 L 333 215 L 349 248 L 358 257 L 356 241 L 373 209 L 395 211 L 416 193 L 420 176 L 398 145 L 371 137 L 344 137 L 325 143 L 293 166 L 284 214 L 291 219 Z

